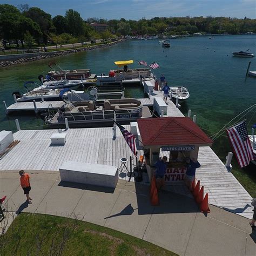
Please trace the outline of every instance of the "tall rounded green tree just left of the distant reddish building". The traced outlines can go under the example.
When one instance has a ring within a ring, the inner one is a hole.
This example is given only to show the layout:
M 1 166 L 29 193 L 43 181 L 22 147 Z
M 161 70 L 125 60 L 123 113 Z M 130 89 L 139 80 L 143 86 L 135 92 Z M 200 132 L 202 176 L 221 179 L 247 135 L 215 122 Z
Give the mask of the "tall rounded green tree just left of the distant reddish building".
M 69 9 L 65 14 L 66 32 L 72 36 L 80 36 L 84 34 L 83 19 L 77 11 Z

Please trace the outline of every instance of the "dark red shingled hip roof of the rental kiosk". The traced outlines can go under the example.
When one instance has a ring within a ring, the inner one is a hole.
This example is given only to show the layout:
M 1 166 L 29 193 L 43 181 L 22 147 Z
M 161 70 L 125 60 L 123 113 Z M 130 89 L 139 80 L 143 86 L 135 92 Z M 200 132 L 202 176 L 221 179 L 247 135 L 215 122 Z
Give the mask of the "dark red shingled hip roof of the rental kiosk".
M 163 117 L 138 119 L 140 136 L 144 145 L 211 146 L 213 141 L 188 117 Z

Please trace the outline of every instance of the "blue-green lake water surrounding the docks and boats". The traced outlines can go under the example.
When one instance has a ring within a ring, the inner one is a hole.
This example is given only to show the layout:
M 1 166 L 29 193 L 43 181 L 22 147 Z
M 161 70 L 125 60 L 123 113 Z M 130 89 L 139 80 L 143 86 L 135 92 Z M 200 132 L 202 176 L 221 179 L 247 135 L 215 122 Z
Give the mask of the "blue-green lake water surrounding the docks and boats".
M 170 86 L 188 87 L 190 98 L 182 103 L 181 112 L 188 109 L 192 115 L 197 114 L 197 124 L 211 135 L 221 129 L 229 120 L 242 110 L 256 103 L 256 78 L 245 74 L 248 62 L 250 70 L 256 71 L 255 58 L 232 57 L 234 51 L 246 51 L 256 55 L 256 36 L 215 36 L 187 37 L 171 40 L 171 47 L 163 49 L 157 40 L 126 41 L 109 48 L 81 52 L 64 57 L 57 57 L 22 65 L 0 69 L 0 99 L 7 105 L 14 102 L 12 92 L 25 92 L 23 83 L 37 80 L 38 75 L 49 71 L 51 61 L 63 69 L 91 69 L 92 73 L 108 73 L 116 68 L 115 60 L 145 60 L 148 64 L 157 62 L 160 69 L 154 70 L 159 78 L 161 73 Z M 136 61 L 131 68 L 138 68 Z M 141 67 L 141 66 L 140 66 Z M 126 97 L 141 98 L 142 87 L 125 90 Z M 0 129 L 16 130 L 15 119 L 19 119 L 22 129 L 43 129 L 43 120 L 31 114 L 5 115 L 2 105 L 0 112 Z M 254 112 L 246 116 L 250 124 L 256 123 Z M 213 149 L 224 158 L 230 146 L 225 137 L 215 141 Z

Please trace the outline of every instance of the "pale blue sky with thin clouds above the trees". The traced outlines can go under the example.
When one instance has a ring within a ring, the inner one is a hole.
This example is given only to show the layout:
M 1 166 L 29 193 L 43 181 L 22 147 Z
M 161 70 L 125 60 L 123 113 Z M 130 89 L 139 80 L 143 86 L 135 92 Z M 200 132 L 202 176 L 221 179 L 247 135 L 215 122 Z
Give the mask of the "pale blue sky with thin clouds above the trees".
M 147 19 L 153 17 L 225 16 L 256 18 L 256 0 L 0 0 L 0 4 L 29 4 L 52 17 L 73 9 L 83 19 Z

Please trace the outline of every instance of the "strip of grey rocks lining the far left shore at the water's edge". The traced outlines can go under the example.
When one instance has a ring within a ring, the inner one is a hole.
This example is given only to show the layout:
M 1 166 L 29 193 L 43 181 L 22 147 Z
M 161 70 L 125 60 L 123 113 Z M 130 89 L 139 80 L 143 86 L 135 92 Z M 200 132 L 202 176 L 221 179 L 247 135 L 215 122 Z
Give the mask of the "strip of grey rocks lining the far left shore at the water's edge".
M 38 55 L 35 56 L 35 57 L 21 57 L 21 58 L 18 58 L 17 60 L 4 60 L 4 61 L 0 62 L 0 68 L 4 68 L 4 67 L 10 66 L 10 65 L 17 65 L 17 64 L 27 63 L 27 62 L 33 62 L 35 60 L 40 60 L 40 59 L 64 56 L 64 55 L 68 55 L 68 54 L 76 53 L 76 52 L 95 50 L 95 49 L 98 49 L 98 48 L 104 48 L 104 47 L 112 46 L 112 45 L 121 43 L 123 41 L 124 40 L 121 39 L 119 41 L 116 41 L 116 42 L 113 42 L 113 43 L 108 43 L 108 44 L 89 46 L 89 47 L 86 47 L 86 48 L 63 50 L 63 51 L 58 51 L 58 52 L 55 51 L 55 52 L 52 52 L 52 54 L 50 52 L 48 52 L 47 55 L 44 55 L 43 52 L 38 52 Z

